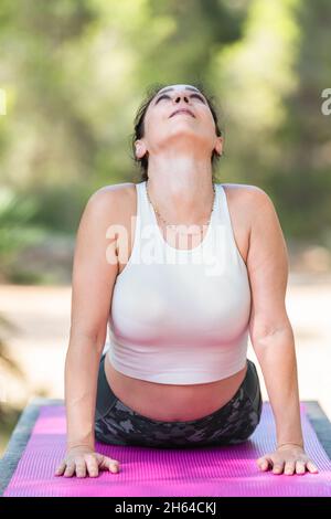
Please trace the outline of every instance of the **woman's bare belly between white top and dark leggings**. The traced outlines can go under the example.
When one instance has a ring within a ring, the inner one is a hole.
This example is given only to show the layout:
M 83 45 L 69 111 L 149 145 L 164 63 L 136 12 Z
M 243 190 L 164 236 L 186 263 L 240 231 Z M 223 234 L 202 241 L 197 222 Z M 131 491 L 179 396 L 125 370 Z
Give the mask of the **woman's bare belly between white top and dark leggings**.
M 105 373 L 113 393 L 128 407 L 151 420 L 199 420 L 224 406 L 245 379 L 247 366 L 237 373 L 206 384 L 159 384 L 117 371 L 105 357 Z

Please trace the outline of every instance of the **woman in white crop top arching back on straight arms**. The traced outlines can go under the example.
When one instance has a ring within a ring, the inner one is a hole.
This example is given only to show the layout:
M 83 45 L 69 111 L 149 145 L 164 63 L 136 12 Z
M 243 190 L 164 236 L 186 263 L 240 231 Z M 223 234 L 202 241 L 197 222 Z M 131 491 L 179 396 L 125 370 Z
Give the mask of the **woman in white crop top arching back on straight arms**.
M 163 448 L 245 442 L 261 413 L 248 332 L 277 430 L 276 449 L 258 467 L 316 473 L 303 449 L 287 252 L 271 200 L 254 186 L 214 181 L 223 137 L 202 88 L 153 91 L 134 147 L 141 182 L 96 191 L 77 233 L 67 452 L 55 474 L 116 473 L 119 460 L 97 453 L 95 439 Z

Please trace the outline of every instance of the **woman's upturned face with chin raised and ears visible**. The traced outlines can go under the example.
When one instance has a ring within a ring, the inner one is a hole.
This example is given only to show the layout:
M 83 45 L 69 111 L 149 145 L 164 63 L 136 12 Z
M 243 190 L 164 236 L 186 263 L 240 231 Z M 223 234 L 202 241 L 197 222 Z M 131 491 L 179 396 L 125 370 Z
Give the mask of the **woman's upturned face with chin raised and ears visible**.
M 179 109 L 188 109 L 190 114 L 174 114 Z M 138 145 L 142 142 L 143 148 L 142 155 L 139 155 L 143 156 L 143 151 L 156 153 L 180 137 L 188 149 L 199 146 L 210 156 L 214 149 L 221 153 L 223 139 L 216 136 L 207 100 L 196 87 L 190 85 L 163 87 L 151 99 L 145 115 L 145 137 L 137 141 Z

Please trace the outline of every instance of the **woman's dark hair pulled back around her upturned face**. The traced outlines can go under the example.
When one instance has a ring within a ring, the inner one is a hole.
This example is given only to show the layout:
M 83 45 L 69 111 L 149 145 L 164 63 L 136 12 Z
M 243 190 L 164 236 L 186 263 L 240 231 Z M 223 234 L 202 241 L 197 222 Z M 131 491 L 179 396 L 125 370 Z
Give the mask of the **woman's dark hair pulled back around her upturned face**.
M 201 82 L 195 83 L 195 84 L 190 83 L 190 85 L 195 86 L 196 88 L 199 88 L 199 91 L 206 98 L 207 104 L 209 104 L 210 109 L 211 109 L 211 113 L 213 115 L 213 119 L 215 121 L 216 135 L 217 135 L 217 137 L 222 136 L 222 131 L 218 127 L 217 109 L 216 109 L 216 106 L 214 104 L 215 96 L 212 95 L 212 94 L 206 93 L 206 88 Z M 142 100 L 141 105 L 139 106 L 139 108 L 137 110 L 137 114 L 136 114 L 136 117 L 135 117 L 135 123 L 134 123 L 135 131 L 131 136 L 131 148 L 132 148 L 132 152 L 134 152 L 132 159 L 139 166 L 140 171 L 141 171 L 140 181 L 148 180 L 148 157 L 147 157 L 148 153 L 145 153 L 145 156 L 142 158 L 137 158 L 135 142 L 136 142 L 137 139 L 141 139 L 145 136 L 145 115 L 146 115 L 146 112 L 147 112 L 151 100 L 153 99 L 156 94 L 161 88 L 164 88 L 166 86 L 168 86 L 168 85 L 167 84 L 160 84 L 160 83 L 153 83 L 151 86 L 147 87 L 147 91 L 146 91 L 147 95 L 146 95 L 145 99 Z M 215 179 L 214 179 L 215 165 L 220 160 L 220 157 L 221 156 L 215 150 L 213 150 L 212 158 L 211 158 L 211 160 L 212 160 L 212 170 L 213 170 L 213 181 L 215 181 Z

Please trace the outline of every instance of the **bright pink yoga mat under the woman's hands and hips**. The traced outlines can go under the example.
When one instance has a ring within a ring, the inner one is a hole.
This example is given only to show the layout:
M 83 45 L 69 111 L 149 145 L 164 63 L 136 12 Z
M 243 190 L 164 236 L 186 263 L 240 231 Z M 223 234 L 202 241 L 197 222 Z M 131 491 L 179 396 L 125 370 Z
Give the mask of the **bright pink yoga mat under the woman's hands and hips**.
M 307 453 L 319 474 L 261 473 L 256 459 L 275 446 L 269 403 L 249 441 L 232 447 L 159 449 L 97 444 L 100 453 L 120 462 L 120 472 L 97 478 L 54 476 L 65 451 L 63 405 L 45 405 L 3 496 L 134 497 L 134 496 L 331 496 L 331 462 L 306 416 L 301 420 Z

